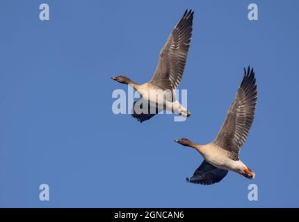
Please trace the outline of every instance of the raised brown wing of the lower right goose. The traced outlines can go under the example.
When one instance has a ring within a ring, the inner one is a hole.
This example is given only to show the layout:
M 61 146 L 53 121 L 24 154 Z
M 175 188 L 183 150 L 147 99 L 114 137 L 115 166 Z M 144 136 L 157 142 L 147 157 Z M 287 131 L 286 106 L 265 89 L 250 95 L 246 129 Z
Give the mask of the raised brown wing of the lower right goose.
M 232 160 L 239 159 L 239 151 L 254 119 L 255 107 L 257 105 L 257 85 L 253 69 L 246 71 L 239 89 L 230 106 L 225 122 L 218 133 L 214 143 L 229 151 Z

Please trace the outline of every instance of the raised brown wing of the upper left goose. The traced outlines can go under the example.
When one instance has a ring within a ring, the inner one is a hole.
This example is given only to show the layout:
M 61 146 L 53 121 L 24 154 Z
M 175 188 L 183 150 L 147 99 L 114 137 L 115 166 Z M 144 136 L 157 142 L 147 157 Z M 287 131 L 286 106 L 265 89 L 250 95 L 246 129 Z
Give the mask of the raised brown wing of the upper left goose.
M 186 10 L 161 49 L 159 62 L 151 80 L 151 83 L 160 89 L 176 89 L 181 82 L 191 43 L 193 13 L 192 10 Z

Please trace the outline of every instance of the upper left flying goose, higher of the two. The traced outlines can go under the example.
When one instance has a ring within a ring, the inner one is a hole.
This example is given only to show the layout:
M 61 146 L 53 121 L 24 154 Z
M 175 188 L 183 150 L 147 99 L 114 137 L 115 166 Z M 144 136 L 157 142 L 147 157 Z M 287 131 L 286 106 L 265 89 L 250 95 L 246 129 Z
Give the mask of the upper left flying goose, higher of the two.
M 170 33 L 160 51 L 159 62 L 152 80 L 139 85 L 126 76 L 111 77 L 119 83 L 131 85 L 140 95 L 140 99 L 134 102 L 131 113 L 131 116 L 138 121 L 151 119 L 162 110 L 168 110 L 182 117 L 191 115 L 191 112 L 175 99 L 175 89 L 181 82 L 186 65 L 191 43 L 193 14 L 192 10 L 186 10 Z

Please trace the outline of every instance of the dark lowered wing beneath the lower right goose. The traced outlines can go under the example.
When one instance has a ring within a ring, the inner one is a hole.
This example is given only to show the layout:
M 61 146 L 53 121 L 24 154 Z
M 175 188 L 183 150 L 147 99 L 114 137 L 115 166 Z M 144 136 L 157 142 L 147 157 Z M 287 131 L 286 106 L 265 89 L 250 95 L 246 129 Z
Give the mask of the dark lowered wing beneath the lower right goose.
M 193 177 L 186 178 L 187 182 L 192 182 L 201 185 L 212 185 L 216 182 L 220 182 L 226 175 L 228 171 L 224 169 L 219 169 L 209 164 L 206 160 L 200 164 L 200 167 L 196 169 Z

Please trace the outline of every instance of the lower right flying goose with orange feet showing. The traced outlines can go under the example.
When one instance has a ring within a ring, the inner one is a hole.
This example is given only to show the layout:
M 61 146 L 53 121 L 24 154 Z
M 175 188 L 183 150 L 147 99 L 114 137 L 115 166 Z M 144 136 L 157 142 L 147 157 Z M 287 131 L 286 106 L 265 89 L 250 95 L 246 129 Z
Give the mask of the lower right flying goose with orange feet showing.
M 244 69 L 244 76 L 230 106 L 222 128 L 216 139 L 206 145 L 199 145 L 182 138 L 175 142 L 195 148 L 204 160 L 187 182 L 212 185 L 220 182 L 228 173 L 234 171 L 245 178 L 253 179 L 255 173 L 241 162 L 239 152 L 248 137 L 257 104 L 257 85 L 253 68 Z

